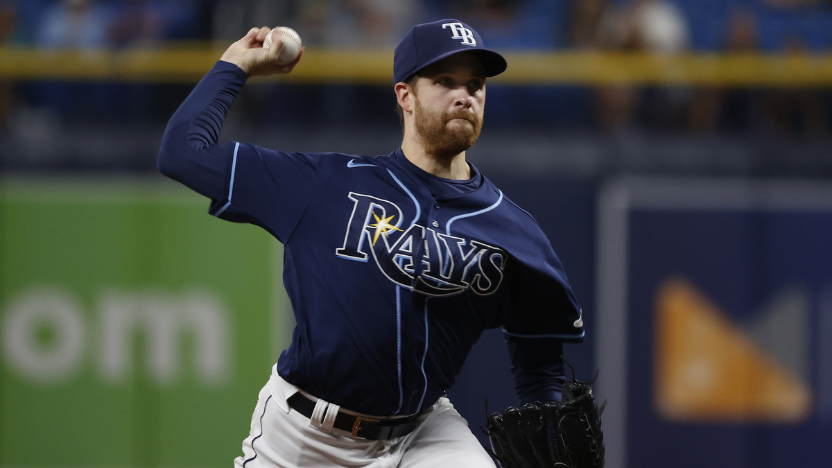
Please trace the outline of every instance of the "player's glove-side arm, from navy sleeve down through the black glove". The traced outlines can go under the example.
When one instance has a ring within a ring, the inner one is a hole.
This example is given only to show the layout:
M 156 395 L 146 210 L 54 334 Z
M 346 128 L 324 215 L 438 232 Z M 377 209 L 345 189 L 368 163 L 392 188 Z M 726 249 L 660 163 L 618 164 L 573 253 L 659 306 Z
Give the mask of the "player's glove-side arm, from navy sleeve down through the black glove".
M 581 308 L 535 227 L 523 232 L 539 235 L 512 252 L 512 306 L 503 320 L 521 405 L 488 416 L 488 438 L 503 468 L 603 468 L 602 409 L 590 386 L 564 383 L 562 343 L 582 341 Z

